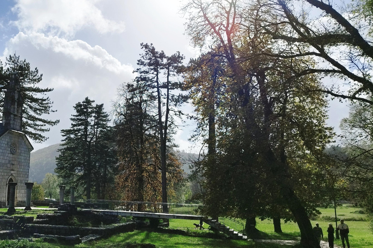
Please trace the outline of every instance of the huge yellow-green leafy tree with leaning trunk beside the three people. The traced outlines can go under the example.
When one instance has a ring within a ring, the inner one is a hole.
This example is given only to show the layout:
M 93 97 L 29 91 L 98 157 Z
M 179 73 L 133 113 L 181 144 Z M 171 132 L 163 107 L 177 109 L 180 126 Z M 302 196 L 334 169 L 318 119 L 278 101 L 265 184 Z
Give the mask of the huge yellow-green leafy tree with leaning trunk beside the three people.
M 215 47 L 212 52 L 225 68 L 226 89 L 215 111 L 219 161 L 216 168 L 205 168 L 212 194 L 207 210 L 236 214 L 251 224 L 261 208 L 283 206 L 298 223 L 302 245 L 318 247 L 308 219 L 310 205 L 302 195 L 304 185 L 295 180 L 312 172 L 306 170 L 307 163 L 298 162 L 301 156 L 317 156 L 331 137 L 330 129 L 324 128 L 322 94 L 309 94 L 303 86 L 318 90 L 318 78 L 295 77 L 312 60 L 270 56 L 278 47 L 255 23 L 252 16 L 260 13 L 243 12 L 236 0 L 192 0 L 184 10 L 194 44 Z M 211 85 L 213 80 L 205 82 Z M 203 86 L 195 89 L 199 87 Z M 275 211 L 271 217 L 276 217 Z

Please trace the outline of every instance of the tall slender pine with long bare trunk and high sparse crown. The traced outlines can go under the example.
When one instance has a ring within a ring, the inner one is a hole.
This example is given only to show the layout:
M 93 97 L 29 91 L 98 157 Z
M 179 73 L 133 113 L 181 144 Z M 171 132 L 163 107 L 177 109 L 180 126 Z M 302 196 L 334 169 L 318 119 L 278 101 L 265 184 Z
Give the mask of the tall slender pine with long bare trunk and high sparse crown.
M 160 142 L 161 168 L 162 168 L 162 202 L 168 202 L 167 194 L 167 150 L 170 149 L 170 130 L 174 116 L 182 112 L 177 108 L 186 100 L 182 94 L 175 94 L 175 90 L 182 88 L 177 77 L 182 68 L 184 56 L 176 52 L 171 56 L 155 50 L 153 44 L 141 44 L 144 53 L 137 61 L 140 67 L 136 70 L 139 74 L 137 80 L 147 83 L 153 89 L 158 104 L 158 137 Z M 174 126 L 173 126 L 174 127 Z M 168 212 L 168 206 L 163 205 L 163 212 Z

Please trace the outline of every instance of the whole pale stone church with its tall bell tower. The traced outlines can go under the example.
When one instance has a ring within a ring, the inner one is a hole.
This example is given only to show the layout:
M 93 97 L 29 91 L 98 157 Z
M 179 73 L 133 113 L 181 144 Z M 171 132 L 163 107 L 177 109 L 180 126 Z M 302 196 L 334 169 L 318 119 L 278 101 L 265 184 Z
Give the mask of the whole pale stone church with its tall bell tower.
M 0 123 L 0 207 L 9 206 L 9 183 L 17 183 L 15 206 L 26 205 L 25 183 L 29 181 L 30 153 L 34 148 L 21 131 L 22 106 L 19 74 L 12 73 Z

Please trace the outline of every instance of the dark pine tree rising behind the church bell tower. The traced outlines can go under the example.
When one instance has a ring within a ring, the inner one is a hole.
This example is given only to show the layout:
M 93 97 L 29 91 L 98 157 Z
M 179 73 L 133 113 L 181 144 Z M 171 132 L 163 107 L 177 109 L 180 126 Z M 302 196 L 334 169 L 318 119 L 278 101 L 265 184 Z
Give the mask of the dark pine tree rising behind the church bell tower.
M 48 138 L 43 133 L 50 130 L 47 126 L 59 123 L 59 120 L 48 120 L 44 116 L 56 110 L 52 110 L 53 102 L 44 95 L 53 91 L 51 88 L 40 88 L 38 83 L 42 80 L 37 68 L 31 69 L 30 63 L 20 60 L 19 56 L 9 55 L 5 65 L 0 61 L 0 87 L 6 89 L 10 74 L 18 72 L 20 76 L 21 95 L 23 99 L 22 131 L 35 142 L 43 142 Z M 3 91 L 1 91 L 3 92 Z M 0 109 L 4 101 L 3 93 L 0 93 Z

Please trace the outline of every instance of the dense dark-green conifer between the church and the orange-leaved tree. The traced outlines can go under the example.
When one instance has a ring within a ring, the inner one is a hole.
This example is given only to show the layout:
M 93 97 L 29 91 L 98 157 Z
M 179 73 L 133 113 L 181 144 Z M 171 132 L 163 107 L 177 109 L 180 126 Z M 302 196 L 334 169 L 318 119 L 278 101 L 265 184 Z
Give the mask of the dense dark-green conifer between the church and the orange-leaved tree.
M 115 165 L 110 120 L 103 104 L 93 106 L 93 103 L 86 97 L 74 106 L 76 113 L 70 118 L 71 127 L 61 130 L 63 148 L 56 157 L 55 169 L 64 182 L 84 185 L 87 200 L 91 199 L 92 188 L 97 197 L 105 196 Z

